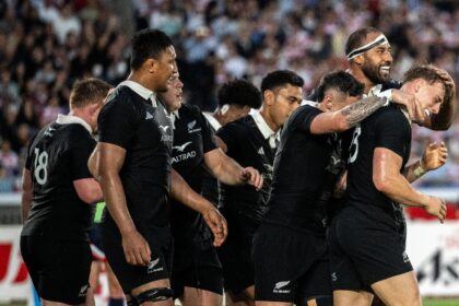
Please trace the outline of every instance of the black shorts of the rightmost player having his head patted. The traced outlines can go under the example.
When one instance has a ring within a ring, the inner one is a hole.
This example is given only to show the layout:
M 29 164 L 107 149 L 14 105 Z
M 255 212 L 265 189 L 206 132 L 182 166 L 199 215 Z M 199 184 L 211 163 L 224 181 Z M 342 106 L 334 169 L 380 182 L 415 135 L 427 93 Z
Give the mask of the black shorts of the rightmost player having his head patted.
M 333 290 L 364 290 L 378 281 L 413 270 L 404 248 L 404 232 L 345 208 L 330 228 Z

